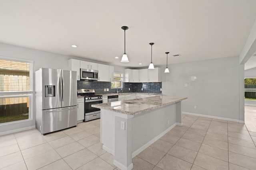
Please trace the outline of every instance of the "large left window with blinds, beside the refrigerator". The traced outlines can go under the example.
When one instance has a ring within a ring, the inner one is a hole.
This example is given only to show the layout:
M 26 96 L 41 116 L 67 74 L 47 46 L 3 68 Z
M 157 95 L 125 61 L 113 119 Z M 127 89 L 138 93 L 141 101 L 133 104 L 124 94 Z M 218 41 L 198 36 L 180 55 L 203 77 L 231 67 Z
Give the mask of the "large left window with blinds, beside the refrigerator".
M 0 59 L 0 123 L 31 119 L 32 63 Z

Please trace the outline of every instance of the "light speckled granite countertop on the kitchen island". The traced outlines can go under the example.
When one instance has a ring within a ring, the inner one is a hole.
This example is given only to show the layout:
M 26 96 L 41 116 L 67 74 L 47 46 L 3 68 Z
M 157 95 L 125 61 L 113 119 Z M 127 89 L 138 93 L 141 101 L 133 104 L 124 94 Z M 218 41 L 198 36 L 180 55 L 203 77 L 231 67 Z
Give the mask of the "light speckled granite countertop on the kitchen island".
M 187 98 L 182 97 L 169 97 L 169 96 L 154 96 L 148 98 L 140 98 L 133 100 L 124 100 L 117 102 L 109 102 L 102 104 L 94 104 L 92 107 L 96 107 L 99 109 L 106 109 L 115 111 L 118 113 L 124 113 L 128 115 L 136 115 L 139 113 L 143 113 L 146 111 L 150 111 L 156 109 L 158 107 L 167 106 L 170 104 L 174 104 L 176 102 L 180 102 Z

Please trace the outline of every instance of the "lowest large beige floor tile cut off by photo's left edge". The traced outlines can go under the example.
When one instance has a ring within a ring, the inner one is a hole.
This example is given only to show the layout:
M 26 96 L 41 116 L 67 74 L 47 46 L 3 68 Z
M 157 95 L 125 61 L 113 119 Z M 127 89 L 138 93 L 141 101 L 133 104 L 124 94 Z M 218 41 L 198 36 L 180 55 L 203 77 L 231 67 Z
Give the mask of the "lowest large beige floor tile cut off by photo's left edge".
M 22 161 L 23 158 L 20 152 L 15 152 L 6 156 L 2 156 L 0 157 L 0 169 Z

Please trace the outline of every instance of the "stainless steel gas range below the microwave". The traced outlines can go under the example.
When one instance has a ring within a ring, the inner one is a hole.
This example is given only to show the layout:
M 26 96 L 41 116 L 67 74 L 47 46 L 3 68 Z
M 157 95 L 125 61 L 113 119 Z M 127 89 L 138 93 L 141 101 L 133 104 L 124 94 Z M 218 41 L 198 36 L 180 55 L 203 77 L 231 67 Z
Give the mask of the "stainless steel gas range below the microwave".
M 95 94 L 94 89 L 79 89 L 77 96 L 84 96 L 84 121 L 100 118 L 100 109 L 92 107 L 92 104 L 102 103 L 102 95 Z

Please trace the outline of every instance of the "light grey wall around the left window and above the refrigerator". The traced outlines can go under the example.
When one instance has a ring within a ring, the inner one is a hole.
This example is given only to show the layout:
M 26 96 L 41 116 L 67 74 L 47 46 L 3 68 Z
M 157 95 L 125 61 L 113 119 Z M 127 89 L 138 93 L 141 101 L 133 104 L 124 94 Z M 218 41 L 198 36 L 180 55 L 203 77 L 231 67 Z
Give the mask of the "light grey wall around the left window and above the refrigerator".
M 64 69 L 68 70 L 68 59 L 80 59 L 84 61 L 90 61 L 78 57 L 71 57 L 66 55 L 59 55 L 55 53 L 48 53 L 45 51 L 39 51 L 34 49 L 28 49 L 24 47 L 18 47 L 14 45 L 7 45 L 4 43 L 0 43 L 0 57 L 10 57 L 15 59 L 22 60 L 30 60 L 34 61 L 33 63 L 33 77 L 36 70 L 39 70 L 41 67 L 45 68 L 56 68 L 56 69 Z M 98 63 L 93 61 L 94 63 Z M 104 64 L 104 63 L 102 63 Z M 106 64 L 106 63 L 105 63 Z M 122 71 L 124 68 L 118 66 L 114 67 L 116 71 Z M 35 84 L 35 78 L 33 78 L 33 84 Z M 35 91 L 35 86 L 33 87 L 33 92 Z M 33 94 L 33 117 L 35 117 L 35 94 Z M 21 128 L 32 127 L 35 125 L 35 119 L 30 121 L 23 121 L 20 123 L 10 123 L 6 125 L 0 125 L 0 135 L 6 131 L 12 131 Z

